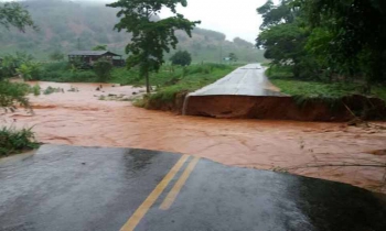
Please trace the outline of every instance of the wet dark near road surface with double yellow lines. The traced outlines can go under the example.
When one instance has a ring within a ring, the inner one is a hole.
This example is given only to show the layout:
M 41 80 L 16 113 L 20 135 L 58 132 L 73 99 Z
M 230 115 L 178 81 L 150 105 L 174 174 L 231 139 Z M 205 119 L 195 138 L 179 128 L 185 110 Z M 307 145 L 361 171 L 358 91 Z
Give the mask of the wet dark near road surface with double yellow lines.
M 0 230 L 386 230 L 349 185 L 143 150 L 44 145 L 0 160 Z

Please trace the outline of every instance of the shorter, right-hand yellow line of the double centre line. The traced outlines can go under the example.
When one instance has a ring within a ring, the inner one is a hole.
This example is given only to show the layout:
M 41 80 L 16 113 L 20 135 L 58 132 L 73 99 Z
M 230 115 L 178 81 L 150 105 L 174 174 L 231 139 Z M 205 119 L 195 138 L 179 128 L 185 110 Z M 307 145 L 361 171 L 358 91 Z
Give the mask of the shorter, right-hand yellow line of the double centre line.
M 195 165 L 199 163 L 199 161 L 200 161 L 200 157 L 194 157 L 194 160 L 187 165 L 187 167 L 185 168 L 185 170 L 181 175 L 180 179 L 175 183 L 172 190 L 170 190 L 168 196 L 164 198 L 163 202 L 160 206 L 160 209 L 168 210 L 173 205 L 181 188 L 184 186 L 186 179 L 189 178 L 189 176 L 193 172 L 193 169 L 194 169 Z

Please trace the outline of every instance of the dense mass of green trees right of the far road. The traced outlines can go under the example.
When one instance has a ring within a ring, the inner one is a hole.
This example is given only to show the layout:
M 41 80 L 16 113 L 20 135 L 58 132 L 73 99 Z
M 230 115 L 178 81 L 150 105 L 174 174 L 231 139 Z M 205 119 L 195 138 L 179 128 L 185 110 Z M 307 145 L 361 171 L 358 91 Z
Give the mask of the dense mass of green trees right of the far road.
M 257 11 L 257 46 L 276 68 L 303 80 L 362 84 L 362 94 L 386 81 L 384 0 L 268 0 Z

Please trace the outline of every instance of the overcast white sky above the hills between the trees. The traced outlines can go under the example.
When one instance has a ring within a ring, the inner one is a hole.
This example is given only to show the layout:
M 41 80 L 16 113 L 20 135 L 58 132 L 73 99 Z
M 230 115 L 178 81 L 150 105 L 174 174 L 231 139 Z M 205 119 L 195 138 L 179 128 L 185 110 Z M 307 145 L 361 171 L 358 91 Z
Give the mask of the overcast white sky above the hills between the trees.
M 238 36 L 255 43 L 262 22 L 256 9 L 266 0 L 187 0 L 187 7 L 178 9 L 189 20 L 201 20 L 200 28 L 226 34 L 227 40 Z M 171 15 L 163 11 L 161 18 Z

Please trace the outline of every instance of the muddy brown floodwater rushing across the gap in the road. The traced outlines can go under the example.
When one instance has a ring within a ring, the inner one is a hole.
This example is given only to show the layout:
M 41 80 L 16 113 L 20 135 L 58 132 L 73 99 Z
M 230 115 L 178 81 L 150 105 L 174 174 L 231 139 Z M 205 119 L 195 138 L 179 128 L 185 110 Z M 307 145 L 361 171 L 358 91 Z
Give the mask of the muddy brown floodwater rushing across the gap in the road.
M 31 82 L 34 85 L 36 82 Z M 386 123 L 369 128 L 343 123 L 218 120 L 136 108 L 129 101 L 98 100 L 132 96 L 141 89 L 98 84 L 40 82 L 64 92 L 34 97 L 34 114 L 20 110 L 2 123 L 33 127 L 43 143 L 137 147 L 178 152 L 226 165 L 274 169 L 352 184 L 386 193 Z M 78 92 L 67 91 L 71 87 Z M 350 166 L 344 166 L 350 165 Z M 365 166 L 356 166 L 365 165 Z

